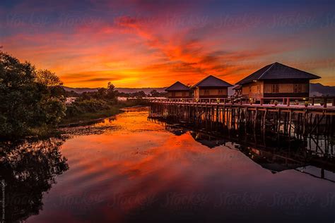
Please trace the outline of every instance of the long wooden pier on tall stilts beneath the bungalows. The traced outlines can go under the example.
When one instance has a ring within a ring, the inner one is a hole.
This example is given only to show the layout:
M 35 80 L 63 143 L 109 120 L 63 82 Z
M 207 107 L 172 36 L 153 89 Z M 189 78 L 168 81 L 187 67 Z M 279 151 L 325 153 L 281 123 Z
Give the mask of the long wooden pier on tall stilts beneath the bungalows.
M 327 102 L 331 100 L 330 105 Z M 327 101 L 328 100 L 328 101 Z M 291 104 L 283 98 L 282 104 L 260 104 L 228 99 L 153 100 L 149 116 L 173 117 L 179 121 L 193 123 L 221 123 L 222 127 L 239 128 L 240 125 L 254 129 L 271 128 L 291 135 L 334 135 L 335 100 L 322 99 L 320 105 Z M 273 102 L 272 102 L 273 103 Z

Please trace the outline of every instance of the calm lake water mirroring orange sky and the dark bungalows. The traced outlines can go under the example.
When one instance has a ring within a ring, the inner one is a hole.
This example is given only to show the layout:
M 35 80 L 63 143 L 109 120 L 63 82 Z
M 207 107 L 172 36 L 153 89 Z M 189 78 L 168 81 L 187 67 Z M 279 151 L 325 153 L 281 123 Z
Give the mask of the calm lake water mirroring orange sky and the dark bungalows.
M 27 221 L 330 222 L 335 218 L 335 184 L 325 180 L 334 174 L 334 156 L 330 149 L 326 152 L 323 141 L 319 143 L 324 153 L 310 150 L 308 140 L 234 131 L 220 134 L 148 121 L 147 116 L 147 111 L 131 111 L 83 131 L 71 128 L 74 137 L 59 148 L 70 168 L 54 178 L 57 184 L 40 200 L 42 211 Z M 30 170 L 29 165 L 21 168 Z M 323 179 L 313 177 L 322 177 L 321 168 Z

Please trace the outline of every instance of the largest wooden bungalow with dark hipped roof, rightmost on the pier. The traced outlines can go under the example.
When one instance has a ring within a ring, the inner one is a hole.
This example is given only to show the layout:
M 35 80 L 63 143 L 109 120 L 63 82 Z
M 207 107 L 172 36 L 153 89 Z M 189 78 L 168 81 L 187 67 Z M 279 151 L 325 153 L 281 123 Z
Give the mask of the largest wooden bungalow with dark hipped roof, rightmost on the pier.
M 237 82 L 242 85 L 242 97 L 309 97 L 312 73 L 279 63 L 269 64 Z

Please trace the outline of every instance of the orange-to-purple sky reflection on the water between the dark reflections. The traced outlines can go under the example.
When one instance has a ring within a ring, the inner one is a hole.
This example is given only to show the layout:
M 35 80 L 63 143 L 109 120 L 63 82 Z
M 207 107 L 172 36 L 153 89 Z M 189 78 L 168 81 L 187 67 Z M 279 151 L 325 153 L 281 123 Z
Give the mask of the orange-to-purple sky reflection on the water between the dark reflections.
M 281 219 L 281 213 L 290 212 L 286 201 L 289 206 L 304 203 L 300 198 L 310 199 L 308 195 L 314 194 L 316 203 L 290 213 L 305 219 L 308 208 L 319 210 L 321 202 L 327 213 L 334 207 L 334 196 L 327 193 L 332 184 L 295 171 L 274 176 L 233 143 L 211 150 L 196 142 L 189 131 L 175 135 L 148 121 L 147 116 L 147 111 L 124 112 L 113 121 L 95 125 L 117 128 L 66 140 L 62 153 L 71 169 L 53 186 L 37 222 L 47 222 L 59 213 L 69 222 L 78 216 L 99 222 L 139 222 L 141 217 L 162 216 L 171 221 L 176 216 Z M 297 188 L 303 190 L 295 194 L 300 201 L 291 202 Z M 278 191 L 276 196 L 274 191 Z

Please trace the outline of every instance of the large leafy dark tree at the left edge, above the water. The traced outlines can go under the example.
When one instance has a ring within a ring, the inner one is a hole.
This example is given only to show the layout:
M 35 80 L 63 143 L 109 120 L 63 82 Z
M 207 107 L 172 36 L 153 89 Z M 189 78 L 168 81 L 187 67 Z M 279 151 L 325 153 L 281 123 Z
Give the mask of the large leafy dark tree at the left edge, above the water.
M 59 78 L 0 52 L 0 138 L 46 133 L 65 116 Z

